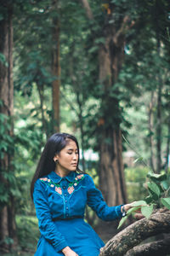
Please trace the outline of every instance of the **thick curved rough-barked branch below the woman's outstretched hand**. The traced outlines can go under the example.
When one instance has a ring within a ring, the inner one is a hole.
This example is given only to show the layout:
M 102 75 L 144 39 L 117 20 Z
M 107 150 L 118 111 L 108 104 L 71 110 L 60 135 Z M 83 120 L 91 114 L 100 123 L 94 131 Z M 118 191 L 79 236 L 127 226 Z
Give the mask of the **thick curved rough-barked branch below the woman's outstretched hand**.
M 99 256 L 122 256 L 128 250 L 139 245 L 141 241 L 160 233 L 170 232 L 170 211 L 158 211 L 149 219 L 142 218 L 122 230 L 102 248 Z

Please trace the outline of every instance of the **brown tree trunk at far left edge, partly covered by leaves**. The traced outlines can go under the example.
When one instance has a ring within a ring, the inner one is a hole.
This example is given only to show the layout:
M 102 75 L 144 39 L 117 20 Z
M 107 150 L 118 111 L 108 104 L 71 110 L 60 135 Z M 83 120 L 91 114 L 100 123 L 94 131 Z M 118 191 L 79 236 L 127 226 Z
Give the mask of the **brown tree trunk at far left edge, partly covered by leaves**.
M 11 119 L 11 129 L 8 131 L 6 129 L 7 136 L 13 137 L 14 135 L 14 125 L 12 118 L 14 115 L 14 84 L 13 84 L 13 25 L 12 25 L 12 13 L 13 8 L 9 3 L 2 2 L 4 7 L 4 18 L 0 20 L 0 52 L 4 55 L 5 61 L 0 61 L 0 98 L 2 105 L 0 107 L 0 113 L 6 115 Z M 3 124 L 5 125 L 5 124 Z M 4 179 L 3 172 L 8 172 L 12 170 L 13 155 L 8 153 L 8 150 L 3 152 L 3 157 L 0 159 L 0 183 L 4 185 L 5 188 L 8 186 L 8 181 Z M 9 194 L 8 194 L 9 195 Z M 0 241 L 1 249 L 7 251 L 9 249 L 8 243 L 5 239 L 9 237 L 13 239 L 12 247 L 17 244 L 16 236 L 16 224 L 14 218 L 14 197 L 9 195 L 8 203 L 3 203 L 1 205 L 0 212 Z

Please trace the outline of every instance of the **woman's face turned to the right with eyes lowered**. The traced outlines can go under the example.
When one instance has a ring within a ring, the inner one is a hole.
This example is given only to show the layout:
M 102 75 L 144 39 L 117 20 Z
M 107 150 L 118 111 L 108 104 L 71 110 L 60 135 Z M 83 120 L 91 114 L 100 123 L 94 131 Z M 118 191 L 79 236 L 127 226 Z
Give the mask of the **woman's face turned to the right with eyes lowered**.
M 68 140 L 67 145 L 63 148 L 59 154 L 54 156 L 54 161 L 57 160 L 56 170 L 57 172 L 71 172 L 77 170 L 78 163 L 78 148 L 77 144 L 71 139 Z

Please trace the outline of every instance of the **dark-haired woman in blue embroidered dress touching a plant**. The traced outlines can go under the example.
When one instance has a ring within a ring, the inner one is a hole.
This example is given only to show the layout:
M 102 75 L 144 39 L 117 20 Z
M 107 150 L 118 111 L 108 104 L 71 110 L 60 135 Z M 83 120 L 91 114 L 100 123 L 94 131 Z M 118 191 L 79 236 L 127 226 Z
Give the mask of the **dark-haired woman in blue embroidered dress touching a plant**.
M 76 137 L 55 133 L 48 139 L 31 182 L 41 232 L 36 256 L 98 256 L 105 244 L 83 220 L 86 205 L 105 221 L 122 218 L 131 207 L 108 207 L 78 162 Z

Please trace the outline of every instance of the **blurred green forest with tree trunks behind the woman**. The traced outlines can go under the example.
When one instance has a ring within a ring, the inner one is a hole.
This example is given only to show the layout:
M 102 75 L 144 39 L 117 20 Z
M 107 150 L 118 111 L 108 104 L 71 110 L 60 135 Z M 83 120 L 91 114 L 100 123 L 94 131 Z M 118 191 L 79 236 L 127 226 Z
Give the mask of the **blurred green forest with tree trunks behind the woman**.
M 144 199 L 147 173 L 168 172 L 170 4 L 0 3 L 1 247 L 33 255 L 31 177 L 54 132 L 78 138 L 81 168 L 108 205 Z

